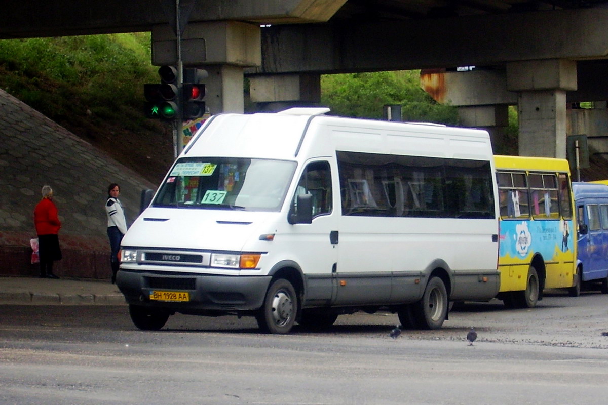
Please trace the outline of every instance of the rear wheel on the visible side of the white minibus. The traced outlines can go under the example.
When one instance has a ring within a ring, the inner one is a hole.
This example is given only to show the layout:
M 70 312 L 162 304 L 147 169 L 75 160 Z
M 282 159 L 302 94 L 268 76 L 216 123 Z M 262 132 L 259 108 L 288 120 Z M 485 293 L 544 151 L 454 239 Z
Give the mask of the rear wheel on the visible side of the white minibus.
M 448 305 L 449 299 L 443 280 L 431 277 L 420 301 L 412 304 L 416 326 L 421 329 L 440 328 L 446 320 Z

